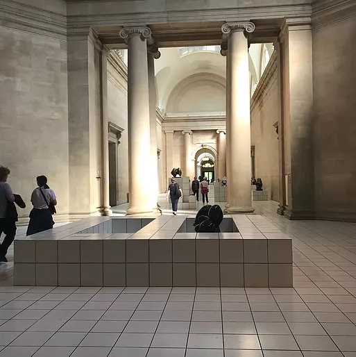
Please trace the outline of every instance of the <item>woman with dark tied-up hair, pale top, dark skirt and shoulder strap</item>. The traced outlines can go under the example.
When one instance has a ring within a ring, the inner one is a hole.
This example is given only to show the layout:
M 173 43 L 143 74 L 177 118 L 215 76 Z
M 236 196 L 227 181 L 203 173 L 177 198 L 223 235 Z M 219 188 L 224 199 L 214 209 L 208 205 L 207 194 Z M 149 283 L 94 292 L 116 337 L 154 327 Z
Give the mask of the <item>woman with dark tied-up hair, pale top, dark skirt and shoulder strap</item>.
M 26 235 L 53 229 L 52 214 L 56 213 L 54 206 L 57 204 L 56 194 L 47 185 L 46 176 L 37 177 L 37 185 L 32 192 L 31 203 L 33 209 L 30 213 L 30 223 Z

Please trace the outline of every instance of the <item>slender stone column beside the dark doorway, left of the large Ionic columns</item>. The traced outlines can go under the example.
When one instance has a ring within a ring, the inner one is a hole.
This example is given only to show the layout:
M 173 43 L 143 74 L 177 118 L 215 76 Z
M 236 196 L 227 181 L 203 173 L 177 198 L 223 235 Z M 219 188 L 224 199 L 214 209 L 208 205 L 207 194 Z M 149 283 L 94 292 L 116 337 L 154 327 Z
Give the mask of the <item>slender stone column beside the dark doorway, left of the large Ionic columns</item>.
M 109 124 L 108 124 L 108 56 L 109 50 L 101 51 L 101 145 L 103 174 L 101 180 L 101 215 L 110 215 L 109 205 Z

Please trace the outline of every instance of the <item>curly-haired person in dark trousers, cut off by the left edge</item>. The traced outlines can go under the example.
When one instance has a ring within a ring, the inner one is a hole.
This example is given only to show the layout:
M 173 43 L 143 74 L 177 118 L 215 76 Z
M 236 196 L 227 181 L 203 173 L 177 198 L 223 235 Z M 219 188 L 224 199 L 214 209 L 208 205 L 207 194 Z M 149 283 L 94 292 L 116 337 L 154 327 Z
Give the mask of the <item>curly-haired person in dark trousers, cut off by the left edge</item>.
M 8 203 L 15 202 L 15 196 L 10 188 L 8 181 L 10 169 L 0 166 L 0 236 L 5 233 L 5 238 L 0 246 L 0 263 L 6 263 L 6 253 L 8 247 L 15 239 L 16 221 L 15 218 L 7 217 Z

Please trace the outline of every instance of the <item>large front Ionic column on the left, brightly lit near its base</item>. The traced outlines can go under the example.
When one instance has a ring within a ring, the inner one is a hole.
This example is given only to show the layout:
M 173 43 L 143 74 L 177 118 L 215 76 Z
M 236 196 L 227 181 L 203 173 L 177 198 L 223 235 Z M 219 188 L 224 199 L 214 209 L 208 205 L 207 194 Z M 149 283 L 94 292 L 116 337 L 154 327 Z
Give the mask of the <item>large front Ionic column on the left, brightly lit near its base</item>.
M 144 181 L 151 176 L 148 27 L 127 27 L 119 32 L 128 44 L 128 215 L 152 212 L 152 196 Z M 146 176 L 146 177 L 145 177 Z

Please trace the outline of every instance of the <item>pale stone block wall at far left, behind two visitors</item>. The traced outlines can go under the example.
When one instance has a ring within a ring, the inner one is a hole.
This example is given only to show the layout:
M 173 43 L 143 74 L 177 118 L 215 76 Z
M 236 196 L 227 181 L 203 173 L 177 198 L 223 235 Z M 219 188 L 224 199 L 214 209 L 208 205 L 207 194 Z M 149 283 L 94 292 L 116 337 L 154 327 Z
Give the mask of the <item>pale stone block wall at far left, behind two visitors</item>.
M 67 42 L 1 26 L 0 38 L 0 165 L 10 167 L 8 182 L 26 201 L 22 217 L 44 174 L 60 219 L 69 208 Z

